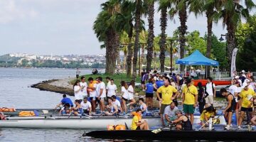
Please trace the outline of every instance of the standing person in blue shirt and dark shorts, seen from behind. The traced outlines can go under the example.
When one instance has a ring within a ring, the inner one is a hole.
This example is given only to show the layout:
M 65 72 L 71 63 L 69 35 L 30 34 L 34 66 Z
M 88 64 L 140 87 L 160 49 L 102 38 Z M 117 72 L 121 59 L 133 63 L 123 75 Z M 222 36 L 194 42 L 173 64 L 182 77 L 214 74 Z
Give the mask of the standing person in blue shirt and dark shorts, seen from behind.
M 152 109 L 153 107 L 153 97 L 154 97 L 154 86 L 153 78 L 149 79 L 149 82 L 146 84 L 146 106 Z

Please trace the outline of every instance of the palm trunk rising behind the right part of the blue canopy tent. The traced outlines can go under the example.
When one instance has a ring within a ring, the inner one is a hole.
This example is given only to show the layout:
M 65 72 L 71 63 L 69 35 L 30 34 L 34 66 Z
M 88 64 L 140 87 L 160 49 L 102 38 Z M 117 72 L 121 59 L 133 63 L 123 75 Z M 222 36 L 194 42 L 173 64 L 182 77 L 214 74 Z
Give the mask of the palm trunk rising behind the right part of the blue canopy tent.
M 210 16 L 213 15 L 213 9 L 209 9 L 206 11 L 206 17 L 207 17 L 207 49 L 206 49 L 206 57 L 210 58 L 210 48 L 212 46 L 212 34 L 213 34 L 213 20 L 210 18 Z M 210 67 L 207 67 L 206 74 L 210 76 Z

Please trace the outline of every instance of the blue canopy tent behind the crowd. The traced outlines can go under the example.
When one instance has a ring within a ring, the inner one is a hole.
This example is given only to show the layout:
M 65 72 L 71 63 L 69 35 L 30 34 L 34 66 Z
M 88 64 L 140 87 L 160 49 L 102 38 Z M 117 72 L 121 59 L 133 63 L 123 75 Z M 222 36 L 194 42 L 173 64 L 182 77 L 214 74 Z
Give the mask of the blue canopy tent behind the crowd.
M 196 50 L 186 58 L 176 60 L 176 64 L 180 65 L 212 65 L 218 66 L 219 62 L 206 58 L 200 51 Z M 217 77 L 216 77 L 217 78 Z

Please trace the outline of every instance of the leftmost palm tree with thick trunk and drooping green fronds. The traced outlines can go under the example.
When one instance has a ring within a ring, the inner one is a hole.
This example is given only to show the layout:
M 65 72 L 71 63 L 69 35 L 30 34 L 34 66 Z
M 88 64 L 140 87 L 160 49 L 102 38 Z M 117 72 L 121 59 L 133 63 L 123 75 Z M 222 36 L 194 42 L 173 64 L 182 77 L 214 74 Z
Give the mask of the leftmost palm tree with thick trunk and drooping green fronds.
M 106 48 L 106 73 L 114 75 L 115 62 L 119 52 L 119 33 L 117 19 L 120 15 L 121 0 L 110 0 L 103 3 L 102 11 L 97 15 L 93 25 L 98 40 Z

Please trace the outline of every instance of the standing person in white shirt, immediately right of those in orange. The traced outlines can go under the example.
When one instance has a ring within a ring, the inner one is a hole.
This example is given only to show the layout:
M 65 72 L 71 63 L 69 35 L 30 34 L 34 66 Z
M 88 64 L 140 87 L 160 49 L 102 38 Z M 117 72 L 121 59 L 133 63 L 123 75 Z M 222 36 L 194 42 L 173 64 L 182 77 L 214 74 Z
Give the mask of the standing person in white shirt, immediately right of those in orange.
M 105 109 L 105 97 L 106 97 L 106 86 L 105 83 L 102 82 L 102 77 L 97 77 L 97 102 L 100 103 L 100 111 L 104 111 Z

